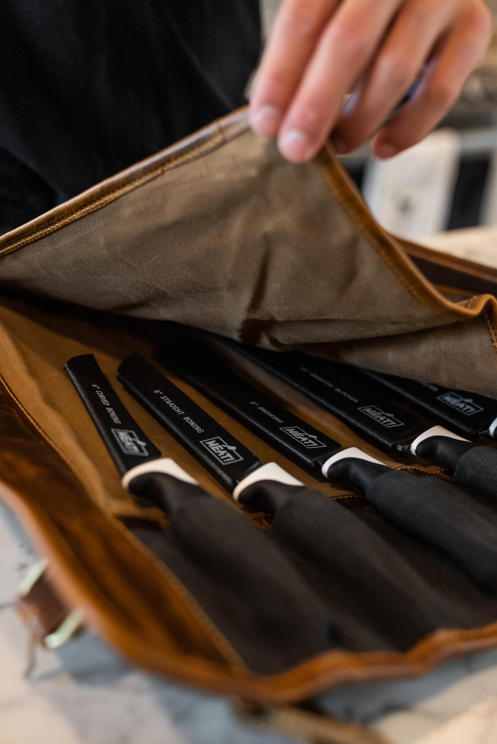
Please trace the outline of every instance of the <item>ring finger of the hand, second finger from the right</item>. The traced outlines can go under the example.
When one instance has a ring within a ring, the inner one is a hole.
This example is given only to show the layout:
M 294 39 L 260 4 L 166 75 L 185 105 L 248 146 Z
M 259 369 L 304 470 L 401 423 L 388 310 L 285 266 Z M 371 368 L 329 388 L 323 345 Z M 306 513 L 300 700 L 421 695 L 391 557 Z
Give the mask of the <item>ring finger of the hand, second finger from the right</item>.
M 429 12 L 431 10 L 431 12 Z M 373 67 L 344 107 L 333 130 L 338 153 L 355 150 L 378 129 L 423 71 L 452 8 L 432 0 L 408 2 L 395 19 Z

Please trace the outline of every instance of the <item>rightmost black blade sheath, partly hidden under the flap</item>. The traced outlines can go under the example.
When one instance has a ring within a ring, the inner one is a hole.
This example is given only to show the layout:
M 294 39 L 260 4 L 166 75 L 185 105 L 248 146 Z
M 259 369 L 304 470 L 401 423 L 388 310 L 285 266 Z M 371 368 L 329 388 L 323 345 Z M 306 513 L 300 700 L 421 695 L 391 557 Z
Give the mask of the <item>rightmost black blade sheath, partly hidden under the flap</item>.
M 493 436 L 497 429 L 492 426 L 497 423 L 497 400 L 476 393 L 443 388 L 432 382 L 371 370 L 363 372 L 384 388 L 419 406 L 434 421 L 448 424 L 452 431 L 463 437 L 475 439 L 480 434 Z

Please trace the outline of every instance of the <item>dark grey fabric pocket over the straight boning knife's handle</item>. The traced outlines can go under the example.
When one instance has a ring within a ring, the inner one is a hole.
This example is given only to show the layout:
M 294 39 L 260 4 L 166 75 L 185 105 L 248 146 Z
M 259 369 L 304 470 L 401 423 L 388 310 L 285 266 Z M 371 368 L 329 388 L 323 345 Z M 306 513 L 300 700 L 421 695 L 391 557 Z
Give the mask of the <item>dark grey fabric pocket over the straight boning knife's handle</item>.
M 461 626 L 458 607 L 353 510 L 316 491 L 280 490 L 271 532 L 333 608 L 344 647 L 406 650 L 440 627 Z

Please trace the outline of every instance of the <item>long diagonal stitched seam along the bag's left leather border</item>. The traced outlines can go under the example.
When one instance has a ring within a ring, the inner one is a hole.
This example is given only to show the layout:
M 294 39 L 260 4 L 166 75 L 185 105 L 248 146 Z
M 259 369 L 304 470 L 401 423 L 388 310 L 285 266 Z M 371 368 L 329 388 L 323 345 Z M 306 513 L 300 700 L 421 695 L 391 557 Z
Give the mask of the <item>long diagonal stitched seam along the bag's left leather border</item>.
M 9 386 L 7 385 L 7 382 L 3 379 L 3 377 L 0 376 L 0 383 L 4 387 L 7 394 L 12 398 L 14 404 L 19 407 L 22 412 L 25 414 L 25 416 L 28 418 L 28 420 L 31 422 L 31 424 L 34 426 L 37 432 L 42 435 L 42 437 L 45 439 L 45 441 L 48 443 L 49 446 L 53 447 L 58 455 L 60 455 L 60 458 L 65 462 L 66 465 L 71 469 L 72 472 L 74 472 L 75 475 L 77 475 L 77 478 L 85 485 L 87 492 L 89 492 L 90 495 L 93 495 L 94 497 L 96 494 L 94 493 L 94 490 L 92 489 L 91 485 L 86 481 L 86 478 L 84 478 L 83 474 L 80 473 L 79 469 L 77 469 L 77 466 L 75 466 L 71 459 L 68 458 L 64 452 L 57 446 L 57 444 L 51 440 L 51 437 L 46 434 L 43 429 L 36 423 L 35 420 L 31 417 L 31 415 L 26 411 L 25 407 L 22 405 L 20 400 L 13 394 L 13 391 L 10 390 Z M 15 410 L 15 409 L 14 409 Z M 196 618 L 196 620 L 200 623 L 200 625 L 205 630 L 206 634 L 209 638 L 211 638 L 211 641 L 214 643 L 214 646 L 217 647 L 218 650 L 222 652 L 222 655 L 224 655 L 229 661 L 230 664 L 233 667 L 236 667 L 240 670 L 247 670 L 246 664 L 243 661 L 243 659 L 240 657 L 240 655 L 237 654 L 236 650 L 231 646 L 228 639 L 225 638 L 224 635 L 222 635 L 222 632 L 217 628 L 216 625 L 212 622 L 211 618 L 208 617 L 208 615 L 205 614 L 202 607 L 196 602 L 195 598 L 190 594 L 190 592 L 186 589 L 186 587 L 179 581 L 179 579 L 173 574 L 173 572 L 170 570 L 170 568 L 161 563 L 157 557 L 150 551 L 148 548 L 146 548 L 145 545 L 143 545 L 138 538 L 136 538 L 129 530 L 124 527 L 124 525 L 121 525 L 121 522 L 119 522 L 118 519 L 115 519 L 115 517 L 112 515 L 112 513 L 107 512 L 106 510 L 101 507 L 101 505 L 95 501 L 94 498 L 92 498 L 92 502 L 97 507 L 98 510 L 100 510 L 100 513 L 103 514 L 103 516 L 109 520 L 109 522 L 112 522 L 113 525 L 118 527 L 120 532 L 126 537 L 126 539 L 132 543 L 132 545 L 135 545 L 141 552 L 147 556 L 147 558 L 151 559 L 153 564 L 156 566 L 156 568 L 159 569 L 161 574 L 167 579 L 168 583 L 172 585 L 173 589 L 176 590 L 177 594 L 179 594 L 180 597 L 182 597 L 182 600 L 185 602 L 185 604 L 190 609 L 190 612 L 192 612 L 193 616 Z M 204 627 L 207 626 L 207 627 Z

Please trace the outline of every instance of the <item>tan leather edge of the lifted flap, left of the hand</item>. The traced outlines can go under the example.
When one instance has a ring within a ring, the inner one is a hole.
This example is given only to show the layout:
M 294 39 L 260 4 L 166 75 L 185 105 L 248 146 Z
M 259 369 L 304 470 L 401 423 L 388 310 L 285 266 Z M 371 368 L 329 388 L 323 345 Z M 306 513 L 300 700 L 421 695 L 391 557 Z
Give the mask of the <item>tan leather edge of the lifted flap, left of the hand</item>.
M 160 176 L 165 170 L 188 163 L 205 153 L 210 153 L 225 142 L 243 134 L 249 129 L 247 108 L 243 107 L 213 124 L 199 129 L 170 147 L 161 150 L 150 158 L 135 163 L 121 173 L 92 186 L 67 202 L 58 205 L 45 214 L 26 222 L 15 230 L 0 237 L 0 256 L 32 243 L 44 235 L 84 217 L 92 211 L 106 206 L 109 202 L 123 196 Z

